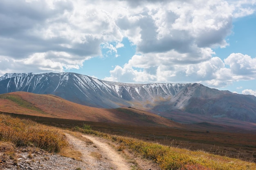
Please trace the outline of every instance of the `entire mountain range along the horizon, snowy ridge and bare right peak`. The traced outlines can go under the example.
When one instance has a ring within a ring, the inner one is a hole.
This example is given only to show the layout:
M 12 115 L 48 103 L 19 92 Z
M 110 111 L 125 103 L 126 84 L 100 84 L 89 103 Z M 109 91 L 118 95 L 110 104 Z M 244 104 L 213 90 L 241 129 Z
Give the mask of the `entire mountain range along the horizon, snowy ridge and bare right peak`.
M 76 73 L 13 73 L 0 77 L 0 94 L 53 94 L 101 108 L 140 106 L 152 111 L 225 117 L 256 123 L 256 97 L 211 89 L 198 83 L 129 84 Z

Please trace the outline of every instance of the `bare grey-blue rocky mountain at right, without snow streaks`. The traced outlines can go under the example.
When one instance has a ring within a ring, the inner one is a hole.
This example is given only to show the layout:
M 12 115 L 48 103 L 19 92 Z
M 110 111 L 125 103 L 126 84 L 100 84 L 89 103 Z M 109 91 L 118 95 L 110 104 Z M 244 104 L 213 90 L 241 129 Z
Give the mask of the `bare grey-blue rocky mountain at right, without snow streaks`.
M 159 102 L 153 110 L 168 113 L 183 111 L 210 118 L 231 118 L 256 122 L 256 97 L 187 84 L 175 97 Z

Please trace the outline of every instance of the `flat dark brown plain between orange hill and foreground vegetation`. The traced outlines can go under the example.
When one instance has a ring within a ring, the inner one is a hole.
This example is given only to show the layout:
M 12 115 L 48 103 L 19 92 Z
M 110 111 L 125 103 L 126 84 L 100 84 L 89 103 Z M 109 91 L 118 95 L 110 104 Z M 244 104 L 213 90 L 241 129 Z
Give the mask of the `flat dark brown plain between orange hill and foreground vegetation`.
M 203 129 L 186 130 L 157 126 L 129 126 L 125 124 L 87 122 L 15 114 L 13 114 L 13 116 L 29 118 L 40 123 L 62 128 L 83 127 L 84 124 L 89 124 L 92 129 L 106 134 L 132 137 L 147 142 L 157 142 L 166 146 L 186 148 L 195 151 L 203 150 L 215 155 L 223 155 L 245 161 L 256 161 L 256 133 L 252 131 L 244 131 L 243 133 L 210 131 L 210 133 L 206 133 Z

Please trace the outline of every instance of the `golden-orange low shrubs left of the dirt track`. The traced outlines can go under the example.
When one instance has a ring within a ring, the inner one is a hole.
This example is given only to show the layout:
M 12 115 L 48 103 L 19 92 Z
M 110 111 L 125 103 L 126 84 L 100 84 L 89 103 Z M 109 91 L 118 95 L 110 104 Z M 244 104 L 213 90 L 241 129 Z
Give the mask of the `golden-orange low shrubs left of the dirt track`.
M 0 115 L 0 141 L 35 146 L 49 152 L 59 152 L 68 145 L 65 135 L 49 126 L 6 115 Z

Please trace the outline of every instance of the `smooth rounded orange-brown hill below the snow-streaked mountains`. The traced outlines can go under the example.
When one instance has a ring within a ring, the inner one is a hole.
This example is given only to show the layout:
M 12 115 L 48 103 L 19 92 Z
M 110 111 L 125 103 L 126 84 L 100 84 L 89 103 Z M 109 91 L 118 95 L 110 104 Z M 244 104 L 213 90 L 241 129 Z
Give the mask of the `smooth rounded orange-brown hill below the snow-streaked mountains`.
M 0 111 L 92 122 L 182 127 L 179 123 L 134 108 L 99 109 L 79 105 L 54 95 L 28 92 L 1 94 Z

